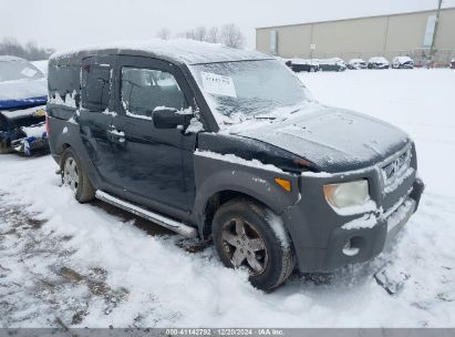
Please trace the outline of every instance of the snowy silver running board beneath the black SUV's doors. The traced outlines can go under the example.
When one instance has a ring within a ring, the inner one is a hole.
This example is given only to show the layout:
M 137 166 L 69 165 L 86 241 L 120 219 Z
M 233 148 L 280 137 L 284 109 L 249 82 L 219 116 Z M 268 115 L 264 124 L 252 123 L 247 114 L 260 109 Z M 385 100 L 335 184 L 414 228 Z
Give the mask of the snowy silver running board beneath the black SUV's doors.
M 197 231 L 194 227 L 190 227 L 188 225 L 185 225 L 183 223 L 179 223 L 175 219 L 168 218 L 167 216 L 151 212 L 148 210 L 142 208 L 137 205 L 134 205 L 132 203 L 125 202 L 116 196 L 113 196 L 111 194 L 107 194 L 103 191 L 96 191 L 95 197 L 106 202 L 107 204 L 114 205 L 118 208 L 122 208 L 124 211 L 131 212 L 135 215 L 138 215 L 143 218 L 146 218 L 153 223 L 156 223 L 167 229 L 174 231 L 183 236 L 186 237 L 196 237 L 197 236 Z

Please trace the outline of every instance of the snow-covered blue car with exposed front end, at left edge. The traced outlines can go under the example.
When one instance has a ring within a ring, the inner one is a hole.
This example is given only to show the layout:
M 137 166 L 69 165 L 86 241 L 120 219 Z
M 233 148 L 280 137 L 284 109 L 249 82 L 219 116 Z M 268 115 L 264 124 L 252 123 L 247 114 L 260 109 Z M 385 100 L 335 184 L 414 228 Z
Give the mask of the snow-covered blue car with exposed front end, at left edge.
M 49 149 L 45 132 L 46 80 L 27 60 L 0 57 L 0 153 L 30 155 Z

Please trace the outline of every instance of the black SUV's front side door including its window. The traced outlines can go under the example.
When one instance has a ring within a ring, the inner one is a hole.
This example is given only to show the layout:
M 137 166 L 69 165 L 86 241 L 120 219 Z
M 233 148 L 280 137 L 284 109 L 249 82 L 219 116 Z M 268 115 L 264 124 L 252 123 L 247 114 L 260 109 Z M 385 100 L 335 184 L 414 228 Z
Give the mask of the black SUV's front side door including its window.
M 156 129 L 152 121 L 161 106 L 189 109 L 186 80 L 176 65 L 141 57 L 120 55 L 117 73 L 120 96 L 111 140 L 124 191 L 152 205 L 189 211 L 196 135 Z

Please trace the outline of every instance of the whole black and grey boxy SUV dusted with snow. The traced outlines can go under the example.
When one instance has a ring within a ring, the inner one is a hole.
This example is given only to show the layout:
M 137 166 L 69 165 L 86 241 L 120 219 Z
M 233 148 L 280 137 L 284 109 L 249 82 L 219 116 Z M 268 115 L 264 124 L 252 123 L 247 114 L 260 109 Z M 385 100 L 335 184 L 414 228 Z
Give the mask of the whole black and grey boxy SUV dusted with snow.
M 54 54 L 48 129 L 62 181 L 188 237 L 271 290 L 365 262 L 417 210 L 406 133 L 321 105 L 276 59 L 196 41 Z

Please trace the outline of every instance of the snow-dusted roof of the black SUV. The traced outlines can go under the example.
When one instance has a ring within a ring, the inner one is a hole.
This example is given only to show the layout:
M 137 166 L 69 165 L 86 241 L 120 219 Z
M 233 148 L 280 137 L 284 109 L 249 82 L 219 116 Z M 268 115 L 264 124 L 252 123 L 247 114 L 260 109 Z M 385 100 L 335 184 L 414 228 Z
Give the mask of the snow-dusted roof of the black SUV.
M 184 64 L 273 59 L 257 51 L 232 49 L 221 44 L 185 39 L 168 41 L 155 39 L 139 42 L 114 42 L 62 51 L 52 54 L 49 64 L 79 64 L 86 57 L 103 54 L 142 55 Z

